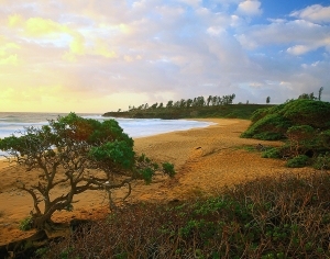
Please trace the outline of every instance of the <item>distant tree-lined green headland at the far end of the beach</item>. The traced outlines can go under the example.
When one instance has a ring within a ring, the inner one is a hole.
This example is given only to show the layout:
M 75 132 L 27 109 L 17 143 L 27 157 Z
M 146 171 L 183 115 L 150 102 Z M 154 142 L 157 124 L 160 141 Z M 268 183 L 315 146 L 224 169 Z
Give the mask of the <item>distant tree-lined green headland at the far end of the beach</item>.
M 207 99 L 197 97 L 194 99 L 182 99 L 168 101 L 166 104 L 147 103 L 140 106 L 129 106 L 129 111 L 107 112 L 103 116 L 113 117 L 139 117 L 139 119 L 187 119 L 187 117 L 231 117 L 250 119 L 251 114 L 261 108 L 270 108 L 266 104 L 232 104 L 235 94 L 212 97 Z

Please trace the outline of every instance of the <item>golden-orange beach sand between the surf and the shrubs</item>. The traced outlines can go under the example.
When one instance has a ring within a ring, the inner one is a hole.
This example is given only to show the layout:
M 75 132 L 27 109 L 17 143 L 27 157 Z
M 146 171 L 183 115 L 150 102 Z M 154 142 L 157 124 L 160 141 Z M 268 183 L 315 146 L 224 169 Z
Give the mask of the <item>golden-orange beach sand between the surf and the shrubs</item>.
M 258 151 L 248 151 L 243 147 L 280 146 L 280 142 L 262 142 L 240 138 L 240 134 L 250 125 L 245 120 L 205 119 L 213 122 L 205 128 L 173 132 L 134 139 L 135 151 L 144 153 L 158 161 L 175 165 L 174 179 L 157 177 L 150 185 L 143 181 L 133 183 L 129 203 L 139 201 L 170 202 L 185 200 L 194 195 L 219 193 L 224 185 L 232 185 L 263 176 L 285 172 L 307 172 L 308 168 L 290 169 L 284 167 L 284 160 L 261 158 Z M 26 172 L 22 168 L 0 161 L 0 245 L 30 236 L 34 230 L 19 230 L 19 223 L 32 211 L 31 196 L 20 191 L 18 180 L 37 181 L 37 171 Z M 53 191 L 59 195 L 63 189 Z M 106 193 L 87 191 L 75 196 L 73 212 L 56 212 L 55 222 L 69 222 L 73 218 L 100 218 L 109 213 Z M 114 193 L 120 200 L 123 190 Z

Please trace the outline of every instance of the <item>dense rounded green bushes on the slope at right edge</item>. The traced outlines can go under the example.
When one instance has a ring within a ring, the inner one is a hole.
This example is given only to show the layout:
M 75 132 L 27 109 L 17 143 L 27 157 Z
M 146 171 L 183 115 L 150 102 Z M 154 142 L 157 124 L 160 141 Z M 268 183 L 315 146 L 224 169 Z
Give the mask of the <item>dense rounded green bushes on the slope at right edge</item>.
M 304 94 L 301 94 L 304 95 Z M 301 97 L 300 95 L 300 97 Z M 312 98 L 289 100 L 284 104 L 256 110 L 251 117 L 252 124 L 241 135 L 264 140 L 285 142 L 277 150 L 267 150 L 263 157 L 286 157 L 288 167 L 304 167 L 317 164 L 330 149 L 330 103 Z M 306 95 L 306 97 L 307 97 Z M 304 95 L 305 97 L 305 95 Z M 328 162 L 323 167 L 327 167 Z

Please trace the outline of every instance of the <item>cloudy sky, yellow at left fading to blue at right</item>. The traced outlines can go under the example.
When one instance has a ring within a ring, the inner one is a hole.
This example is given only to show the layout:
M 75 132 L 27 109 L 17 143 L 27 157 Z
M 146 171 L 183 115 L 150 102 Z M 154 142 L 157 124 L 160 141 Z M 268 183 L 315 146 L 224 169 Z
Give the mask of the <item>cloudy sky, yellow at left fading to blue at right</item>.
M 323 87 L 330 1 L 0 0 L 0 112 L 199 95 L 283 103 Z

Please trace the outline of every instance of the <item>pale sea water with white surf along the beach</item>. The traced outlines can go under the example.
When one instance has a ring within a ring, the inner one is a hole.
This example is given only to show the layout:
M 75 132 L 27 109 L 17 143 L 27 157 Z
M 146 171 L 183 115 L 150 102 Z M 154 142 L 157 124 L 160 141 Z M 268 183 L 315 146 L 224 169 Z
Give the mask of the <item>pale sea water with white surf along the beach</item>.
M 63 113 L 26 113 L 26 112 L 0 112 L 0 138 L 12 134 L 20 136 L 25 127 L 40 127 L 46 125 L 48 120 L 65 116 Z M 86 119 L 98 121 L 109 120 L 100 114 L 77 113 Z M 116 117 L 123 131 L 133 138 L 157 135 L 167 132 L 187 131 L 195 127 L 206 127 L 210 122 L 198 122 L 187 120 L 161 120 L 161 119 L 120 119 Z M 0 150 L 0 155 L 3 155 Z

